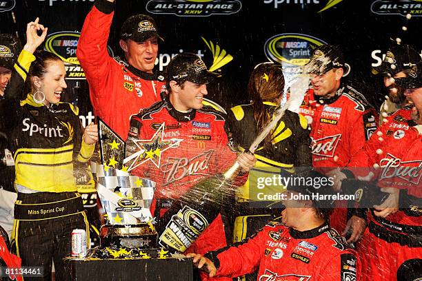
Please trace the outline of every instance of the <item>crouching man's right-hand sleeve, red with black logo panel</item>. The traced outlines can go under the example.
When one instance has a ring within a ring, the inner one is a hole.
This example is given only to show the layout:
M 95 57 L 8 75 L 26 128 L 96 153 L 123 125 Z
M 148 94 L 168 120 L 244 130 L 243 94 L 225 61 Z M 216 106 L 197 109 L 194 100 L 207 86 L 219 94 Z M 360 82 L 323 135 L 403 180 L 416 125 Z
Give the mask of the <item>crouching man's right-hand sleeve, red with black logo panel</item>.
M 361 262 L 352 251 L 342 251 L 340 255 L 330 256 L 328 263 L 320 268 L 318 280 L 361 280 Z

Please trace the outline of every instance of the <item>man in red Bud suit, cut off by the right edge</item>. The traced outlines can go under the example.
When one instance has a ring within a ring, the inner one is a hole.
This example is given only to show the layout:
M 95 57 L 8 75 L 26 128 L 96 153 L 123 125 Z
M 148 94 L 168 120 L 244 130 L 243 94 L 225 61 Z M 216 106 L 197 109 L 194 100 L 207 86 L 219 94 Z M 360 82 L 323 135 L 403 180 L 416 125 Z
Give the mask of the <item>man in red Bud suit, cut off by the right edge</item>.
M 393 114 L 379 131 L 379 147 L 367 147 L 376 149 L 376 156 L 368 153 L 365 163 L 360 161 L 372 167 L 377 185 L 388 194 L 371 209 L 369 233 L 361 240 L 364 280 L 395 280 L 403 262 L 422 256 L 421 67 L 418 63 L 413 73 L 395 79 L 408 89 L 412 109 Z

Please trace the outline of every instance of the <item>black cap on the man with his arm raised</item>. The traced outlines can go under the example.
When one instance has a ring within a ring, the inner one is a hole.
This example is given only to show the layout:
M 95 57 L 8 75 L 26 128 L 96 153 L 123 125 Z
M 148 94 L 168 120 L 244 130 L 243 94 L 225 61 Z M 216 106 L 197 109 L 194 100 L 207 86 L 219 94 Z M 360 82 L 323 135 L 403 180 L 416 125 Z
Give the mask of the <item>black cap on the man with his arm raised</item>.
M 157 24 L 152 17 L 146 14 L 136 14 L 125 20 L 121 27 L 120 38 L 132 39 L 136 42 L 143 42 L 150 37 L 157 37 L 164 41 L 159 35 Z

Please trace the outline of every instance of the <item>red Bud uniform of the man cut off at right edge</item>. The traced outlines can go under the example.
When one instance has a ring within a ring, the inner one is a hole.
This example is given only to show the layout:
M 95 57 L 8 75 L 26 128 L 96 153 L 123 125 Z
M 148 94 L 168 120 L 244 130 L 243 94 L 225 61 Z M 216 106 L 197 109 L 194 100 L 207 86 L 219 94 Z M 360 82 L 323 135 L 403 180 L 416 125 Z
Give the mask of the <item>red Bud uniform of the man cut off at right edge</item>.
M 363 280 L 396 280 L 396 272 L 406 260 L 422 256 L 422 126 L 404 120 L 399 110 L 383 131 L 383 153 L 376 161 L 379 187 L 401 189 L 399 211 L 379 218 L 373 211 L 361 240 Z M 397 117 L 399 116 L 399 117 Z M 405 125 L 399 129 L 397 124 Z M 395 130 L 393 130 L 395 129 Z M 379 151 L 380 152 L 380 151 Z

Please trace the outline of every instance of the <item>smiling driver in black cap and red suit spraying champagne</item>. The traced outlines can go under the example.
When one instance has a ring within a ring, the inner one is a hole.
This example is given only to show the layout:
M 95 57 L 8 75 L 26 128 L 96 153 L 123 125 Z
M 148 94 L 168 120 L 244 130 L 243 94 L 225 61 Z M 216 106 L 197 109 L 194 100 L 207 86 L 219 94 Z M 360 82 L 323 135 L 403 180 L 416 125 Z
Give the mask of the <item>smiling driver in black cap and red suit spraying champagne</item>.
M 157 183 L 156 200 L 151 207 L 157 219 L 173 200 L 204 177 L 225 171 L 234 160 L 243 171 L 249 171 L 255 163 L 254 156 L 237 156 L 228 147 L 225 115 L 202 104 L 208 94 L 207 84 L 214 76 L 199 56 L 191 53 L 174 56 L 167 67 L 168 95 L 164 101 L 130 119 L 126 157 L 139 154 L 141 149 L 143 152 L 127 163 L 128 169 Z M 225 245 L 224 224 L 219 215 L 188 251 L 206 253 Z

